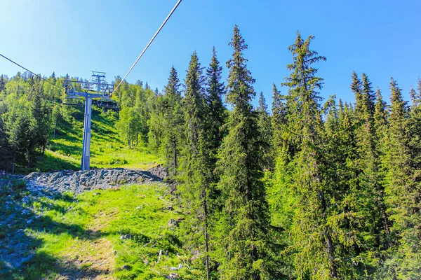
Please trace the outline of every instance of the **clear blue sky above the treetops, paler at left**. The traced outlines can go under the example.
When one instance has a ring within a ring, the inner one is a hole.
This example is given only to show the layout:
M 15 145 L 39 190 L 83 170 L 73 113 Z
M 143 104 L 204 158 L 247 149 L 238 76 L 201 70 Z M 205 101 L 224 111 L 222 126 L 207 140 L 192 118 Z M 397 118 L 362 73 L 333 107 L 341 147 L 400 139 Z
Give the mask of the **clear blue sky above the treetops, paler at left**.
M 175 2 L 1 1 L 0 53 L 46 76 L 55 71 L 90 78 L 91 71 L 105 71 L 112 81 L 128 71 Z M 263 91 L 268 103 L 272 83 L 288 76 L 287 48 L 298 29 L 316 36 L 312 48 L 328 59 L 318 65 L 323 97 L 353 101 L 352 71 L 364 71 L 384 97 L 393 76 L 408 99 L 410 86 L 421 78 L 420 10 L 417 0 L 183 0 L 127 80 L 162 90 L 171 65 L 184 79 L 192 52 L 208 66 L 214 45 L 225 66 L 236 24 L 249 47 L 245 56 L 255 91 Z M 0 57 L 0 73 L 17 71 Z

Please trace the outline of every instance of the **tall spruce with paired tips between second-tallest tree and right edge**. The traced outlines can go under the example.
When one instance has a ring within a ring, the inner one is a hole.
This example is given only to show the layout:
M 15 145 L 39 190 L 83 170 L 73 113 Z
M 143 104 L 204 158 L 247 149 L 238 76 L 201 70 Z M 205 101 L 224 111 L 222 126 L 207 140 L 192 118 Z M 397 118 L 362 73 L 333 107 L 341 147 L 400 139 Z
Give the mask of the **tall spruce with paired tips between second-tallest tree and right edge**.
M 356 258 L 359 258 L 361 274 L 376 263 L 380 251 L 387 249 L 385 236 L 389 231 L 385 211 L 384 189 L 380 184 L 379 157 L 376 150 L 374 113 L 375 104 L 371 83 L 365 73 L 362 88 L 356 87 L 359 80 L 353 73 L 352 90 L 356 97 L 354 131 L 356 137 L 356 159 L 352 167 L 347 200 L 350 202 L 350 227 L 356 232 Z M 375 269 L 375 267 L 373 267 Z M 356 272 L 358 273 L 358 271 Z

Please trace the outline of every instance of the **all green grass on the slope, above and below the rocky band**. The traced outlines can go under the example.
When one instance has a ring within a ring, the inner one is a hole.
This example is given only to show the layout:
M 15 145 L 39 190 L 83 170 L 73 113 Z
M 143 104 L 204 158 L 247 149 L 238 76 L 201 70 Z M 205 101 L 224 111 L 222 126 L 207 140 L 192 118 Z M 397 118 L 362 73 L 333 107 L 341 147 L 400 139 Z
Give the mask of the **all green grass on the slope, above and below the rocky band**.
M 93 168 L 147 169 L 162 163 L 148 148 L 121 144 L 113 118 L 100 111 L 93 113 L 92 130 Z M 82 131 L 82 120 L 62 124 L 36 169 L 79 169 Z M 22 173 L 29 171 L 20 168 Z M 22 197 L 29 195 L 24 187 L 2 190 L 0 221 L 15 215 L 15 222 L 0 229 L 0 249 L 33 257 L 18 271 L 7 269 L 0 260 L 0 279 L 166 279 L 163 275 L 171 272 L 193 279 L 186 268 L 171 270 L 189 260 L 177 255 L 183 255 L 177 229 L 168 221 L 181 216 L 166 210 L 171 197 L 165 193 L 163 184 L 153 183 L 23 202 Z M 123 235 L 131 238 L 121 239 Z M 13 244 L 13 238 L 19 243 Z

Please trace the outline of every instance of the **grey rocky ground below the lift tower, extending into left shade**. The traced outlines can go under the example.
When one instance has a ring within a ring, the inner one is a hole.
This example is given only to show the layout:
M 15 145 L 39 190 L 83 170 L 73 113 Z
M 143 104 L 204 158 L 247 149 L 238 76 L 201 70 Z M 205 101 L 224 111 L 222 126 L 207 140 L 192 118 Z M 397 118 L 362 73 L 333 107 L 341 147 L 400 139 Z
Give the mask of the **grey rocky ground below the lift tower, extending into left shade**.
M 24 229 L 31 228 L 36 219 L 42 219 L 41 216 L 32 213 L 32 209 L 27 206 L 29 202 L 36 200 L 36 197 L 52 198 L 68 191 L 80 194 L 86 190 L 119 188 L 125 184 L 152 183 L 163 181 L 166 176 L 168 172 L 160 166 L 147 171 L 92 169 L 74 172 L 65 170 L 33 172 L 27 176 L 0 173 L 0 270 L 2 262 L 8 269 L 19 269 L 23 263 L 33 258 L 31 252 L 34 251 L 33 247 L 36 244 L 25 236 Z M 95 242 L 100 241 L 103 240 L 98 239 Z M 102 262 L 101 265 L 104 266 Z M 77 273 L 80 271 L 77 270 Z M 1 275 L 0 271 L 0 278 Z M 79 276 L 69 277 L 69 279 L 85 279 Z

